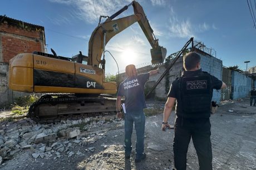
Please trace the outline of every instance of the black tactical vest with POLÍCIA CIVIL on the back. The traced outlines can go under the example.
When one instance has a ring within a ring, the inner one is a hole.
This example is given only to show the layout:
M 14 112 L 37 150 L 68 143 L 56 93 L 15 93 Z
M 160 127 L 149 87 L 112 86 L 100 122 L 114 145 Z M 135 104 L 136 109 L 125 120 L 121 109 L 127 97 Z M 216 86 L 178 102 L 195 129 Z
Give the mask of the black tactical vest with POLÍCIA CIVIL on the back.
M 209 118 L 213 97 L 211 77 L 207 72 L 179 78 L 177 115 L 185 118 Z

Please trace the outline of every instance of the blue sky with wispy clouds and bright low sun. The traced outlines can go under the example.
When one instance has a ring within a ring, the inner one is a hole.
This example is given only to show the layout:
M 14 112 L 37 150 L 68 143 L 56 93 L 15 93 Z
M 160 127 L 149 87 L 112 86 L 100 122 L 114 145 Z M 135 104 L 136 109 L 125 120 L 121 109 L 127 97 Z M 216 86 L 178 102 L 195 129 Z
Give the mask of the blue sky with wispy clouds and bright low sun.
M 88 40 L 100 15 L 111 16 L 129 0 L 2 0 L 0 15 L 45 27 L 48 53 L 72 57 L 82 51 L 87 56 Z M 138 0 L 144 8 L 160 46 L 167 54 L 179 51 L 194 37 L 214 48 L 224 66 L 246 69 L 256 66 L 256 28 L 247 0 Z M 252 4 L 256 17 L 255 0 Z M 132 6 L 119 17 L 133 14 Z M 117 34 L 106 46 L 124 70 L 127 64 L 150 63 L 150 44 L 139 24 Z M 116 74 L 114 59 L 106 54 L 106 73 Z

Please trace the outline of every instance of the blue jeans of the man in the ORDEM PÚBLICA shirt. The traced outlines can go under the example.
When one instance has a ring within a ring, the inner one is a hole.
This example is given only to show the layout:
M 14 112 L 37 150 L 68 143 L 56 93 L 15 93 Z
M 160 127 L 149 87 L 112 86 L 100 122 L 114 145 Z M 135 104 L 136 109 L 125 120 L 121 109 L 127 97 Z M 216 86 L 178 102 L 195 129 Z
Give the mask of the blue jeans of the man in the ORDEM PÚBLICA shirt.
M 145 114 L 143 111 L 125 114 L 125 156 L 131 154 L 131 134 L 136 130 L 136 159 L 140 159 L 144 152 Z

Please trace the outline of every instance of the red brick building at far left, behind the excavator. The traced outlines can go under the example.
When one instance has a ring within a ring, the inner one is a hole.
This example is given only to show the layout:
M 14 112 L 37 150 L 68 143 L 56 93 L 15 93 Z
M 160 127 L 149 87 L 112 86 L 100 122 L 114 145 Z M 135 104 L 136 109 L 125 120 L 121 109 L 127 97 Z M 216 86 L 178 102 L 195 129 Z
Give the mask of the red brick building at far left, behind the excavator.
M 45 28 L 0 16 L 0 107 L 23 95 L 8 89 L 8 62 L 18 53 L 45 52 Z

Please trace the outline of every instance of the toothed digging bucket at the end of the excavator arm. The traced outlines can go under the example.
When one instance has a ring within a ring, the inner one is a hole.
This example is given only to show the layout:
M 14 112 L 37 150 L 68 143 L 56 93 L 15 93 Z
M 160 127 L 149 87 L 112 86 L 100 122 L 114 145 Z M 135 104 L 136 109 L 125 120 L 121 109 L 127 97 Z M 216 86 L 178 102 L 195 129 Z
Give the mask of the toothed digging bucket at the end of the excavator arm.
M 159 64 L 164 62 L 167 51 L 166 51 L 166 48 L 162 46 L 158 46 L 156 48 L 150 49 L 150 53 L 152 58 L 151 63 Z

